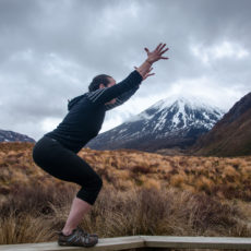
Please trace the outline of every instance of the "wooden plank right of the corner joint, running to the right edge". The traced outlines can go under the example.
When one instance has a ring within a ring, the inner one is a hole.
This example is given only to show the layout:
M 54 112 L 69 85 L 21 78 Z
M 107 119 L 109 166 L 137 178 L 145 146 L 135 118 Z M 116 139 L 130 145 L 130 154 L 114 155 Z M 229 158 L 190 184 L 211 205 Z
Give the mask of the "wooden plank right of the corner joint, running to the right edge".
M 246 249 L 251 250 L 251 238 L 242 237 L 189 237 L 141 236 L 148 248 L 180 249 Z

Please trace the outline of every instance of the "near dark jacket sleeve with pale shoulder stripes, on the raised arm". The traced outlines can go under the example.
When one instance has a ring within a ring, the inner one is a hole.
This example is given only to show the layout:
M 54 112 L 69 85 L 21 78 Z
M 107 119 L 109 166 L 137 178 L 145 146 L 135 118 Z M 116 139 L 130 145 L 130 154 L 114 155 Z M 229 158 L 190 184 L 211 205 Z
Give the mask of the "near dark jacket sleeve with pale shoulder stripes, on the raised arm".
M 139 86 L 139 84 L 142 82 L 142 75 L 135 70 L 118 84 L 87 93 L 87 98 L 96 105 L 105 104 L 110 101 L 112 98 L 119 97 L 123 93 L 127 93 L 128 91 Z

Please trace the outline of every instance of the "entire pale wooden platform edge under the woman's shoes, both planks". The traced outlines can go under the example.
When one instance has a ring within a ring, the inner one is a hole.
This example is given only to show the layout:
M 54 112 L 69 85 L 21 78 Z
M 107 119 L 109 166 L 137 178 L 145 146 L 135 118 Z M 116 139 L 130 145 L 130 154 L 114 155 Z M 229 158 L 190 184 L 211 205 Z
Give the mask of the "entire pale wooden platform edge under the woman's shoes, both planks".
M 237 237 L 181 237 L 181 236 L 127 236 L 98 239 L 92 248 L 61 247 L 57 242 L 3 244 L 0 251 L 56 251 L 56 250 L 171 250 L 179 249 L 238 249 L 251 250 L 251 238 Z

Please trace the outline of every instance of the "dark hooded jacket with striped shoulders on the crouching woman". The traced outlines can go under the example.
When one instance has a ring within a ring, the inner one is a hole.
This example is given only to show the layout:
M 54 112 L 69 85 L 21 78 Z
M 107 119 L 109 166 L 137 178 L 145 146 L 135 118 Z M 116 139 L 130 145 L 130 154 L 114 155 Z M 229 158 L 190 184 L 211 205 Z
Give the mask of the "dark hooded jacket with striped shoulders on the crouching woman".
M 135 70 L 123 81 L 110 87 L 80 95 L 68 104 L 69 112 L 58 127 L 45 134 L 77 153 L 101 129 L 105 113 L 127 101 L 140 87 L 141 74 Z M 115 104 L 105 104 L 117 98 Z

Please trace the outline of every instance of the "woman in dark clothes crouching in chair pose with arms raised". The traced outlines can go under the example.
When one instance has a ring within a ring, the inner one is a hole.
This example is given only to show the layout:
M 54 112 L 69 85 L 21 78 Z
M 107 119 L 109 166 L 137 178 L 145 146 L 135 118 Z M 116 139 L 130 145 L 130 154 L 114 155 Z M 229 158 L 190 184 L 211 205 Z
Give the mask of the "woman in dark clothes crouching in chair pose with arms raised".
M 63 121 L 35 144 L 33 159 L 37 166 L 56 178 L 81 186 L 72 202 L 67 223 L 59 231 L 58 244 L 91 247 L 98 242 L 97 235 L 87 234 L 77 225 L 94 205 L 103 180 L 77 153 L 98 134 L 106 110 L 128 100 L 141 82 L 154 74 L 150 73 L 154 62 L 168 59 L 163 57 L 168 50 L 165 46 L 166 44 L 159 44 L 152 52 L 145 48 L 147 59 L 118 84 L 109 75 L 94 77 L 88 86 L 89 92 L 70 100 L 69 112 Z

